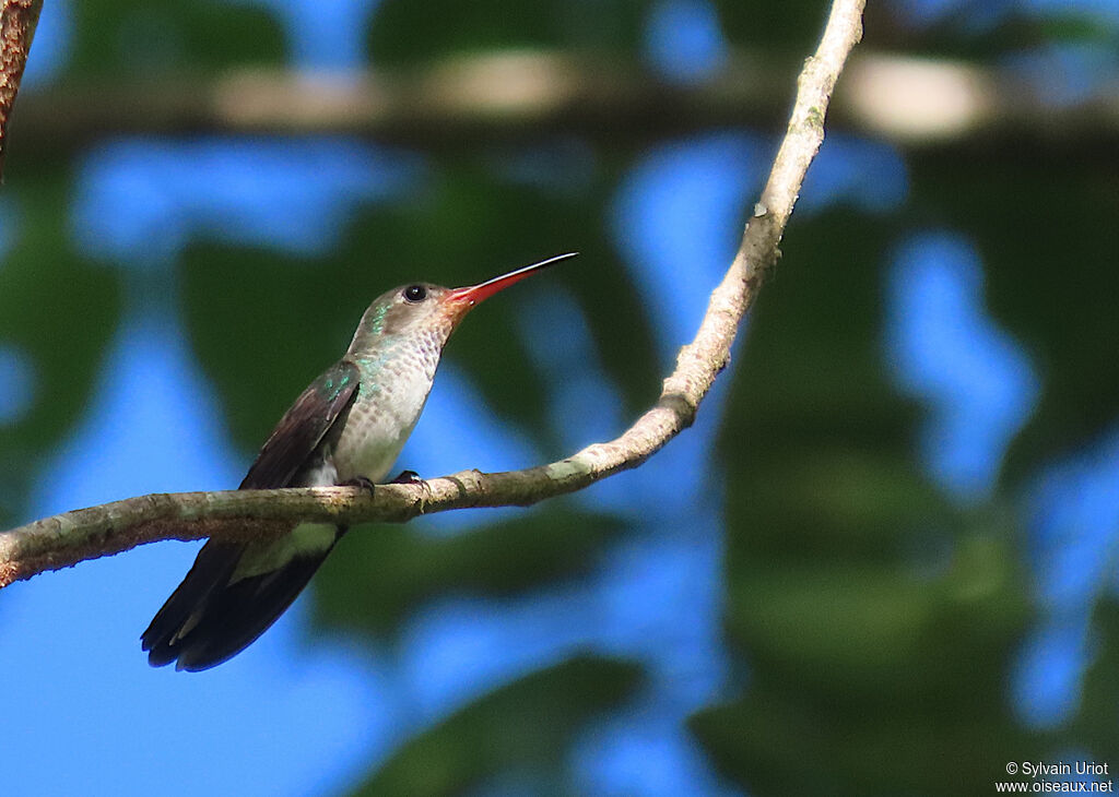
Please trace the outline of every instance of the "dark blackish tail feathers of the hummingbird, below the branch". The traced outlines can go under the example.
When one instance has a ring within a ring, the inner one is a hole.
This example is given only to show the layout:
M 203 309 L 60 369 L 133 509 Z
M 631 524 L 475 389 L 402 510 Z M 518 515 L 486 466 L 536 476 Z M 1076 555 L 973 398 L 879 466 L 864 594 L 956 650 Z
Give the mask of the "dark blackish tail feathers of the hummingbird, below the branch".
M 297 556 L 278 570 L 229 583 L 245 548 L 213 540 L 203 547 L 141 637 L 149 664 L 178 661 L 176 670 L 197 672 L 241 653 L 291 606 L 332 550 Z

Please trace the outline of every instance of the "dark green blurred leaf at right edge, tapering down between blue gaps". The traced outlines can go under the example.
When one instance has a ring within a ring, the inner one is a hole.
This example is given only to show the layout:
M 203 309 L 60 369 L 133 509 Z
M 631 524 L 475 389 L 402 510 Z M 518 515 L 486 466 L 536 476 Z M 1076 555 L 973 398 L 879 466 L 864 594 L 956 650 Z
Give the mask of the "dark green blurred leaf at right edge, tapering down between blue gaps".
M 1008 484 L 1119 417 L 1119 169 L 1115 159 L 1082 155 L 1043 170 L 1013 150 L 914 161 L 919 212 L 975 243 L 990 313 L 1025 347 L 1044 385 L 1010 448 Z M 980 168 L 996 156 L 995 168 Z

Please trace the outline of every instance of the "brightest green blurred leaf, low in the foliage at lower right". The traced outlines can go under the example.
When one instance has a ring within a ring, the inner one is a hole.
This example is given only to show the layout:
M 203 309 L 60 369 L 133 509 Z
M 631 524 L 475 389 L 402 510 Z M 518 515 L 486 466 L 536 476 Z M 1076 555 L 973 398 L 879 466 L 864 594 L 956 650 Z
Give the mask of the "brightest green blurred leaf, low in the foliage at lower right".
M 821 706 L 920 713 L 935 704 L 967 715 L 977 700 L 968 684 L 1000 681 L 1028 617 L 1013 561 L 1005 543 L 972 538 L 934 575 L 896 562 L 742 569 L 727 630 L 759 681 Z M 984 710 L 1004 698 L 985 694 Z

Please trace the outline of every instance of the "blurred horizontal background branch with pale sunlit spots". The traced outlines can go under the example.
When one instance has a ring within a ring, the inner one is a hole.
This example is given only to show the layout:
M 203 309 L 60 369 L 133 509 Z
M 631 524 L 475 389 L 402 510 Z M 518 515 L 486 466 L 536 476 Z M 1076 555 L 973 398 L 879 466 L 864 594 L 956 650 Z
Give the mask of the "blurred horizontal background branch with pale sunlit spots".
M 21 101 L 13 141 L 59 156 L 106 134 L 350 133 L 461 150 L 570 133 L 641 144 L 695 127 L 783 124 L 800 64 L 740 49 L 711 79 L 673 84 L 636 61 L 564 51 L 462 56 L 413 70 L 67 83 Z M 908 149 L 1073 151 L 1119 142 L 1119 85 L 1053 107 L 1010 69 L 902 53 L 852 58 L 833 124 Z

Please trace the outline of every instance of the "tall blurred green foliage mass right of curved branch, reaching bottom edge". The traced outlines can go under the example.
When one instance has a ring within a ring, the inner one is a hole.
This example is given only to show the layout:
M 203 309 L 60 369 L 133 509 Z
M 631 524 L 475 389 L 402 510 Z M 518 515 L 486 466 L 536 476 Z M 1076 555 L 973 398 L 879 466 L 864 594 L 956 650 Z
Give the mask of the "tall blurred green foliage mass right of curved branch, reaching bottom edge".
M 885 372 L 888 233 L 798 220 L 734 378 L 726 628 L 750 680 L 692 727 L 758 795 L 977 793 L 1040 749 L 1003 686 L 1029 611 L 1016 519 L 918 471 Z

